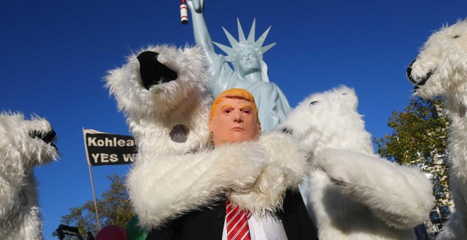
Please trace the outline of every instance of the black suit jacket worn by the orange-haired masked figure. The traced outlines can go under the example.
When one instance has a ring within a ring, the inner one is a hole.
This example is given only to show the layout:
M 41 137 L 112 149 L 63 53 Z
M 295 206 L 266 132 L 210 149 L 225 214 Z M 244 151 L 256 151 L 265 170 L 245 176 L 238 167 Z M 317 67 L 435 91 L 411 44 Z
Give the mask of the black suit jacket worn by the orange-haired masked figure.
M 282 210 L 276 212 L 282 220 L 287 239 L 318 239 L 316 227 L 311 221 L 299 191 L 287 190 Z M 190 212 L 173 220 L 163 229 L 153 229 L 146 240 L 197 240 L 222 239 L 226 217 L 225 200 L 217 202 L 212 208 Z

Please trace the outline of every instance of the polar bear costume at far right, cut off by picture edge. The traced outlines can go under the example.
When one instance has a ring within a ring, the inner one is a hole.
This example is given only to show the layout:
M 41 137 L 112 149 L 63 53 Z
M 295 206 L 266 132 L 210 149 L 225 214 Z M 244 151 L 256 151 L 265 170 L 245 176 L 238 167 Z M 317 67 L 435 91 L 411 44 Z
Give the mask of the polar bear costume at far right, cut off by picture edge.
M 410 64 L 415 95 L 442 96 L 451 118 L 448 137 L 449 183 L 456 205 L 437 239 L 467 238 L 467 20 L 434 32 Z

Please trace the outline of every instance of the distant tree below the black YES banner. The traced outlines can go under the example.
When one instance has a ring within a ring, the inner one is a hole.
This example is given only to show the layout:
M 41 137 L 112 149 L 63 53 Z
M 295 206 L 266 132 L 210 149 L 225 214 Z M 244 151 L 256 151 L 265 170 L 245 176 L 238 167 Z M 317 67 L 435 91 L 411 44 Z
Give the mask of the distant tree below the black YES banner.
M 123 178 L 117 174 L 107 176 L 107 178 L 111 181 L 110 189 L 102 193 L 101 199 L 96 198 L 100 227 L 117 225 L 125 229 L 127 222 L 134 215 L 127 189 Z M 96 236 L 98 224 L 93 200 L 88 200 L 80 207 L 70 208 L 70 213 L 62 216 L 61 222 L 68 226 L 78 227 L 79 233 L 83 236 L 86 236 L 88 231 Z M 54 232 L 52 236 L 57 236 L 57 232 Z M 65 239 L 72 238 L 67 236 Z

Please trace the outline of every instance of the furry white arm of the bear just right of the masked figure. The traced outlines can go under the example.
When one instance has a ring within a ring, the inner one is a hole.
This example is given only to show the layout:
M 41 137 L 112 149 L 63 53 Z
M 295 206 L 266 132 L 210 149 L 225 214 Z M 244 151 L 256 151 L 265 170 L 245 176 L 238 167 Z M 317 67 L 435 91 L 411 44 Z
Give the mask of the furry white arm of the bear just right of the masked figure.
M 427 219 L 434 205 L 431 182 L 419 169 L 376 155 L 330 148 L 318 152 L 314 160 L 345 193 L 388 226 L 415 227 Z

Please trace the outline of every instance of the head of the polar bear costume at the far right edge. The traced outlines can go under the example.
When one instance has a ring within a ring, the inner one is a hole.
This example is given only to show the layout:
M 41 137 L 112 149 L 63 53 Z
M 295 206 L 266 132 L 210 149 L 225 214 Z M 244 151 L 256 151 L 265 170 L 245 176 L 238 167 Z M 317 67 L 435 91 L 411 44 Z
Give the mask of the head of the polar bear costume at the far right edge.
M 443 96 L 465 114 L 467 106 L 467 19 L 434 32 L 408 67 L 415 94 Z

